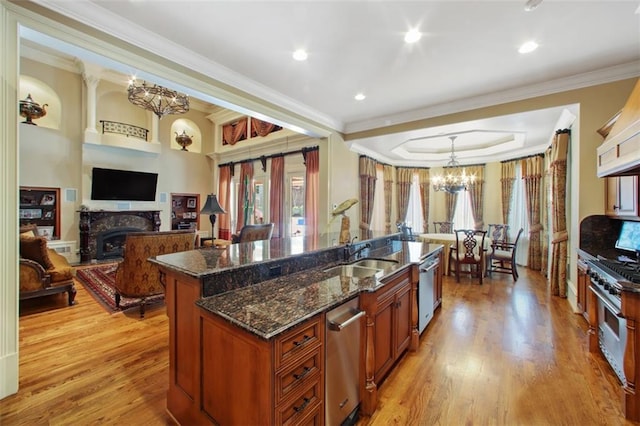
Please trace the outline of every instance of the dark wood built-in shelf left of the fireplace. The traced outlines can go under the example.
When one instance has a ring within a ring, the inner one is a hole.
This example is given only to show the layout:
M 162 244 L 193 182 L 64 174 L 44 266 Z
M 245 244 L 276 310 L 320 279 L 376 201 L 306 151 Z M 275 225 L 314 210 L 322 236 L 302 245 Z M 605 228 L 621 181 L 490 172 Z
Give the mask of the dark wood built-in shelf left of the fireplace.
M 20 226 L 28 224 L 47 239 L 60 238 L 60 188 L 20 187 Z

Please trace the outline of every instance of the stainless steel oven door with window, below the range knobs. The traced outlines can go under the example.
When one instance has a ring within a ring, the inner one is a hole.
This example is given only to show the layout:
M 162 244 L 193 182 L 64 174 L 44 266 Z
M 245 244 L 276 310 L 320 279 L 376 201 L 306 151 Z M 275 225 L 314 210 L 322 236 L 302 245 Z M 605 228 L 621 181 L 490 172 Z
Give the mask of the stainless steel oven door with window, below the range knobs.
M 591 284 L 590 290 L 598 298 L 598 344 L 622 384 L 624 376 L 624 348 L 627 344 L 627 321 L 622 312 L 613 305 L 602 291 Z

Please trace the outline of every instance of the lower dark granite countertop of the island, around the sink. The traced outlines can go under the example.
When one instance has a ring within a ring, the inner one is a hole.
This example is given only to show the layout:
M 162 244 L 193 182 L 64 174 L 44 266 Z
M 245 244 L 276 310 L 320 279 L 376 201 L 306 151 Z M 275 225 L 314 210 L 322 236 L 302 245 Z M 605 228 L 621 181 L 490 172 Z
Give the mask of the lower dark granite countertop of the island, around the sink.
M 377 274 L 377 277 L 340 276 L 339 271 L 325 272 L 334 265 L 322 265 L 316 269 L 206 297 L 198 300 L 196 304 L 268 340 L 361 292 L 375 291 L 384 285 L 379 279 L 390 277 L 409 264 L 420 263 L 443 246 L 423 242 L 402 242 L 401 247 L 399 251 L 384 256 L 384 259 L 395 260 L 397 263 Z

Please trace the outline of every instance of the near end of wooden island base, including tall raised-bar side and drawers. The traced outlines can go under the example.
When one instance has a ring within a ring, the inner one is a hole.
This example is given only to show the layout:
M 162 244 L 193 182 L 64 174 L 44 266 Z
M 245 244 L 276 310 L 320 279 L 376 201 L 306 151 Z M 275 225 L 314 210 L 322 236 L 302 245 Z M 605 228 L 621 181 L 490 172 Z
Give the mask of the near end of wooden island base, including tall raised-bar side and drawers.
M 160 270 L 179 424 L 324 424 L 324 313 L 264 340 L 196 306 L 200 280 Z

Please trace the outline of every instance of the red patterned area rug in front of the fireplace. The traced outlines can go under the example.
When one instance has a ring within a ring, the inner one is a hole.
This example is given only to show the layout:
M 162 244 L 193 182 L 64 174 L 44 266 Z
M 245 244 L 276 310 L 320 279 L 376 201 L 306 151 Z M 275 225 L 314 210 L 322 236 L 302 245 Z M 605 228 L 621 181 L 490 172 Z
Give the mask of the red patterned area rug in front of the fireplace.
M 140 306 L 142 299 L 120 298 L 120 307 L 116 308 L 115 277 L 117 264 L 99 265 L 91 268 L 82 268 L 76 271 L 76 279 L 93 297 L 110 313 L 126 311 Z M 164 300 L 163 294 L 147 297 L 146 305 Z

